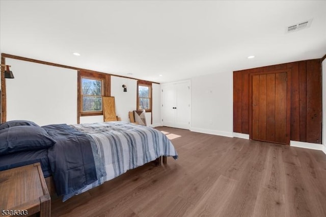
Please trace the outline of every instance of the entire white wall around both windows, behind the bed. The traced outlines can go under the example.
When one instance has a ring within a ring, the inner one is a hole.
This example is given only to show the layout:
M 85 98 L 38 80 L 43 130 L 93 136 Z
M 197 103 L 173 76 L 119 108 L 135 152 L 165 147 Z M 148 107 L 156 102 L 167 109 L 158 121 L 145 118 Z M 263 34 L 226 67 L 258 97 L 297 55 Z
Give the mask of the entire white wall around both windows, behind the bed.
M 39 125 L 77 123 L 77 71 L 6 58 L 14 79 L 6 79 L 7 120 L 31 120 Z M 123 92 L 122 85 L 127 86 Z M 160 125 L 160 85 L 153 84 L 153 126 Z M 136 109 L 137 80 L 111 76 L 116 114 L 129 122 Z M 151 126 L 151 113 L 146 113 Z M 80 123 L 102 122 L 103 116 L 80 117 Z

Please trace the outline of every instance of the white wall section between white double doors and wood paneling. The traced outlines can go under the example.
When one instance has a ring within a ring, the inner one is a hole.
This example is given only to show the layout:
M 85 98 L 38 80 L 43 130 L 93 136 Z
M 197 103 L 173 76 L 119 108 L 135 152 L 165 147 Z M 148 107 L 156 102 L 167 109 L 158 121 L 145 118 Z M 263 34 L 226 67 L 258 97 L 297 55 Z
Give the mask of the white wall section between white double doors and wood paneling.
M 233 73 L 192 78 L 191 130 L 232 137 Z

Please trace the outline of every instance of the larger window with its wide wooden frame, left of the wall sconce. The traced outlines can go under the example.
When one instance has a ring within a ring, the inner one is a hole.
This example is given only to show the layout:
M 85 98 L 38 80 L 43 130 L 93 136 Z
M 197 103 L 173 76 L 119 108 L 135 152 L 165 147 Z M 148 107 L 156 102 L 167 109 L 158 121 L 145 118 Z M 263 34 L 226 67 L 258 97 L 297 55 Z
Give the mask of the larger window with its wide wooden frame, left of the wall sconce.
M 102 96 L 110 96 L 109 74 L 94 71 L 78 71 L 77 108 L 79 123 L 80 116 L 103 115 Z

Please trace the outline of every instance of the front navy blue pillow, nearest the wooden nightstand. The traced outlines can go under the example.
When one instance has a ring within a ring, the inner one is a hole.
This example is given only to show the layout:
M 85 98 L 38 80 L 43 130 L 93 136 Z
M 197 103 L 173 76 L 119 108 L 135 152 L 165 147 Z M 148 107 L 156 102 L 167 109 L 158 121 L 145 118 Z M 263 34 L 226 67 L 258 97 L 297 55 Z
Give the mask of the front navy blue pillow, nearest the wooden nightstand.
M 51 147 L 53 140 L 38 126 L 14 126 L 0 130 L 0 155 Z

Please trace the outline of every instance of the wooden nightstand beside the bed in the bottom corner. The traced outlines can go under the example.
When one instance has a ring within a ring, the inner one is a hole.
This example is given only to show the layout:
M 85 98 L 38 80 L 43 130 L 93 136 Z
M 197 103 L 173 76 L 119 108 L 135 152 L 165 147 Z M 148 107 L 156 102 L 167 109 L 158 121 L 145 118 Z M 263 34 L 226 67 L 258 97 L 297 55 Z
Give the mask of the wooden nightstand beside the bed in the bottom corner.
M 0 212 L 0 216 L 50 216 L 51 198 L 39 163 L 0 172 Z

